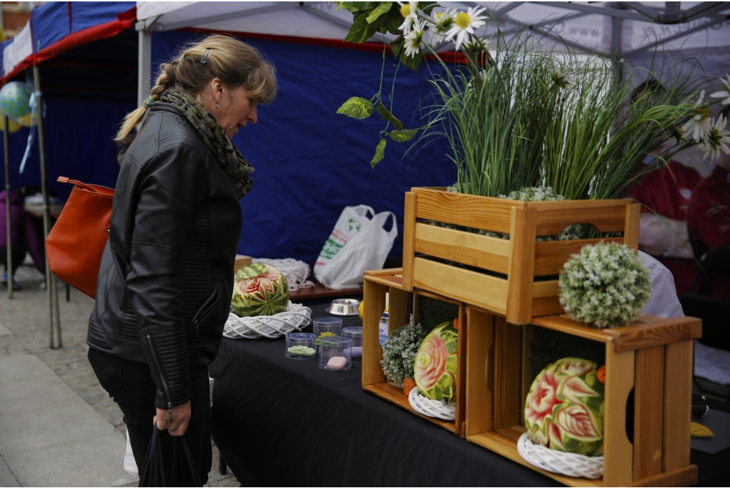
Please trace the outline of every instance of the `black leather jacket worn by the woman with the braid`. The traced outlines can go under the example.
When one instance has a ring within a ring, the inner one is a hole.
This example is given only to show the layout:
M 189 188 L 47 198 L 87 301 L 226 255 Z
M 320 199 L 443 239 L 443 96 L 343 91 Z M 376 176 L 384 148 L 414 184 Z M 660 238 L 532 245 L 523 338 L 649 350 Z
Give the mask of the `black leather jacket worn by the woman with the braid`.
M 190 399 L 190 368 L 218 353 L 241 207 L 174 106 L 155 103 L 127 150 L 89 318 L 89 346 L 150 365 L 155 406 Z

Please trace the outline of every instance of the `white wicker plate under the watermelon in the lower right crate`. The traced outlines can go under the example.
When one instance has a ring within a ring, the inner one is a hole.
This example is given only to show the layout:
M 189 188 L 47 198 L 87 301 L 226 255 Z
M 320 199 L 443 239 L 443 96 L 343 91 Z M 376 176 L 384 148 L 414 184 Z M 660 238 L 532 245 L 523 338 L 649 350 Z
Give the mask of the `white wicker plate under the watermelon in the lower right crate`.
M 526 433 L 517 441 L 517 450 L 523 460 L 550 473 L 590 479 L 603 476 L 603 456 L 588 457 L 549 449 L 533 444 Z

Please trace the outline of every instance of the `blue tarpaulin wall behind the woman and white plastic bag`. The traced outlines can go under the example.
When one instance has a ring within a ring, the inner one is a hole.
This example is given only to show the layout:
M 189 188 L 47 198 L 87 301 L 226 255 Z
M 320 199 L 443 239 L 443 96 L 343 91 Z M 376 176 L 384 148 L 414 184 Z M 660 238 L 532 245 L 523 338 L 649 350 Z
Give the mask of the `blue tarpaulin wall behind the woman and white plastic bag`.
M 169 31 L 153 34 L 152 59 L 168 61 L 176 47 L 199 34 Z M 365 204 L 376 212 L 395 212 L 399 238 L 392 255 L 402 252 L 404 193 L 415 186 L 445 186 L 456 181 L 456 166 L 443 140 L 425 149 L 388 139 L 385 159 L 370 167 L 385 122 L 338 115 L 352 96 L 370 98 L 380 85 L 381 53 L 242 39 L 260 49 L 277 68 L 280 93 L 260 106 L 258 123 L 234 136 L 255 167 L 253 190 L 241 201 L 243 231 L 239 252 L 254 257 L 295 257 L 313 265 L 345 206 Z M 383 93 L 388 103 L 395 59 L 385 60 Z M 431 68 L 434 68 L 431 65 Z M 407 128 L 418 107 L 429 103 L 423 63 L 418 72 L 401 67 L 393 112 Z M 392 129 L 392 126 L 391 126 Z

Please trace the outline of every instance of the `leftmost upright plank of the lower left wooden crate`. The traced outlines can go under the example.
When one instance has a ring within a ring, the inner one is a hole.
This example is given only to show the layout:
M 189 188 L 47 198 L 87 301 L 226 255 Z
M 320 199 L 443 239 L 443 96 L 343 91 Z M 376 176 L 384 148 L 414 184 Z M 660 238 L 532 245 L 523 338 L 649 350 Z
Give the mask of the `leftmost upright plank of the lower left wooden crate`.
M 382 383 L 385 381 L 383 368 L 380 361 L 383 360 L 383 347 L 380 346 L 380 317 L 385 311 L 384 284 L 371 281 L 369 276 L 365 277 L 363 284 L 364 305 L 363 305 L 363 372 L 362 384 Z

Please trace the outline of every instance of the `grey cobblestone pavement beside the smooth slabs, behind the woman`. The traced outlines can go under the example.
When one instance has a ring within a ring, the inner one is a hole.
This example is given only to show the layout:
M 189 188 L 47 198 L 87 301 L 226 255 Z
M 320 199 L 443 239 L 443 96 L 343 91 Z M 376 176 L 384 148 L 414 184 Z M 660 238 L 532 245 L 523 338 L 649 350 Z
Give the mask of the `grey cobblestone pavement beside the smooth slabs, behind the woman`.
M 46 290 L 39 288 L 44 281 L 43 276 L 32 265 L 24 265 L 20 266 L 15 278 L 23 290 L 16 291 L 12 300 L 7 298 L 7 288 L 0 287 L 0 322 L 12 332 L 12 336 L 0 336 L 0 356 L 28 353 L 36 355 L 120 433 L 126 433 L 122 412 L 99 384 L 86 357 L 86 328 L 93 309 L 93 300 L 71 288 L 70 301 L 66 301 L 66 285 L 59 282 L 58 302 L 64 346 L 50 349 L 47 295 Z M 220 476 L 218 459 L 218 449 L 214 444 L 213 469 L 205 486 L 237 486 L 237 479 L 230 473 Z M 121 465 L 122 460 L 119 463 Z M 93 468 L 90 466 L 89 469 Z

